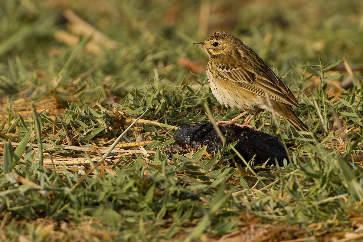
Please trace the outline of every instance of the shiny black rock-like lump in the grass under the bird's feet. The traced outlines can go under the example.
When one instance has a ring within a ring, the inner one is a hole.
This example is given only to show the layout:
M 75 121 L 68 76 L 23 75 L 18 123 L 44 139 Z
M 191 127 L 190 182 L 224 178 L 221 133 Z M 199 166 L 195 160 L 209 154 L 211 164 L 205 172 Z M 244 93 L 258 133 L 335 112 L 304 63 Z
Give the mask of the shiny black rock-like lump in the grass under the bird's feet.
M 284 146 L 278 142 L 276 138 L 250 128 L 241 128 L 236 125 L 226 125 L 220 127 L 223 135 L 227 133 L 227 145 L 237 140 L 236 150 L 246 160 L 250 161 L 254 155 L 254 164 L 263 164 L 269 158 L 267 165 L 276 165 L 275 158 L 278 164 L 283 166 L 284 159 L 287 160 L 287 153 Z M 210 122 L 203 121 L 197 125 L 185 125 L 176 132 L 174 137 L 176 144 L 184 149 L 198 150 L 207 145 L 209 154 L 218 152 L 218 145 L 222 145 L 216 130 Z M 238 162 L 238 157 L 235 156 Z M 238 164 L 244 166 L 244 163 L 239 161 Z

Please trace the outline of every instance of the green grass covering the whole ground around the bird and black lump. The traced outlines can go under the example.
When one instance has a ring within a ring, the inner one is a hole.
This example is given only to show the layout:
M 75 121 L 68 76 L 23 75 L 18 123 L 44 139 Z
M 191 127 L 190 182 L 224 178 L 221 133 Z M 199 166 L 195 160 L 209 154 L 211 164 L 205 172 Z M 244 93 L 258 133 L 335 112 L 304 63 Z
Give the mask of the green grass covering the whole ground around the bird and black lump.
M 351 160 L 363 150 L 362 69 L 352 75 L 340 67 L 363 62 L 362 7 L 353 0 L 1 2 L 1 240 L 213 241 L 230 234 L 247 241 L 244 234 L 260 231 L 272 241 L 347 233 L 359 241 L 363 179 Z M 101 52 L 90 52 L 95 42 L 84 36 L 76 46 L 57 41 L 55 33 L 70 31 L 60 17 L 66 8 L 117 48 L 101 42 Z M 200 20 L 200 8 L 210 9 L 209 19 Z M 238 114 L 216 102 L 205 80 L 207 56 L 191 45 L 217 30 L 240 37 L 284 76 L 301 103 L 296 112 L 320 137 L 296 138 L 284 120 L 259 114 L 253 125 L 287 147 L 284 168 L 255 175 L 221 154 L 202 156 L 203 149 L 163 152 L 173 126 L 208 120 L 205 104 L 216 120 Z M 180 58 L 203 68 L 190 73 Z M 337 88 L 347 78 L 353 88 Z M 157 122 L 136 123 L 122 142 L 150 144 L 113 153 L 75 186 L 102 156 L 84 150 L 107 149 L 145 111 L 142 119 Z M 60 158 L 84 159 L 61 165 Z

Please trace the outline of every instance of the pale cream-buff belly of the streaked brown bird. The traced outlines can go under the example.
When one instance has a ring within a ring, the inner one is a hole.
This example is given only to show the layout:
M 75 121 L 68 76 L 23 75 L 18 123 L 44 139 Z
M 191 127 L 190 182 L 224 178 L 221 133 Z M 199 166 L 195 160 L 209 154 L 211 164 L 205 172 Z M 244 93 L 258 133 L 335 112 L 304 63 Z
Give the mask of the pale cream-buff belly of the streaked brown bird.
M 257 94 L 242 89 L 224 80 L 209 80 L 213 95 L 217 101 L 225 106 L 238 109 L 240 111 L 250 110 L 252 112 L 257 109 L 266 109 L 266 99 Z

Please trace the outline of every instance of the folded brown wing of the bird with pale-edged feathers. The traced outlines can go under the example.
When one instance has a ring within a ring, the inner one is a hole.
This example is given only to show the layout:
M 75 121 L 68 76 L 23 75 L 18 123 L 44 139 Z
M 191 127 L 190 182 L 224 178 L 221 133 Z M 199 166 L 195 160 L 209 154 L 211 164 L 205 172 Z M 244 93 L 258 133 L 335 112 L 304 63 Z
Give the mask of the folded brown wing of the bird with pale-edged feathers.
M 298 107 L 299 102 L 285 83 L 266 66 L 260 57 L 258 57 L 258 61 L 256 66 L 253 66 L 251 62 L 244 59 L 241 59 L 240 62 L 237 62 L 238 64 L 234 65 L 231 63 L 236 62 L 236 60 L 227 61 L 227 63 L 229 62 L 228 64 L 219 64 L 216 61 L 210 64 L 215 65 L 213 70 L 215 70 L 215 75 L 220 79 L 232 82 L 260 96 L 268 96 L 273 100 Z M 225 60 L 223 62 L 226 63 Z

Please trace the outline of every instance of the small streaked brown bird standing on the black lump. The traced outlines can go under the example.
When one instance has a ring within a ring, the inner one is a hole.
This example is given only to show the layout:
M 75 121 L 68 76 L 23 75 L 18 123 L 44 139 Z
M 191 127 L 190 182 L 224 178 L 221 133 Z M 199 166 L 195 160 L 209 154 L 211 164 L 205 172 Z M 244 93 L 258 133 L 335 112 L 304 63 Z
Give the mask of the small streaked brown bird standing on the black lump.
M 209 56 L 206 73 L 217 101 L 242 112 L 231 120 L 217 122 L 218 125 L 252 127 L 250 123 L 257 114 L 268 110 L 284 118 L 296 130 L 310 131 L 293 111 L 293 106 L 299 107 L 294 94 L 242 40 L 230 33 L 219 31 L 210 35 L 207 40 L 193 45 L 203 47 Z M 250 112 L 254 114 L 244 124 L 236 122 Z M 311 138 L 306 134 L 302 136 Z

